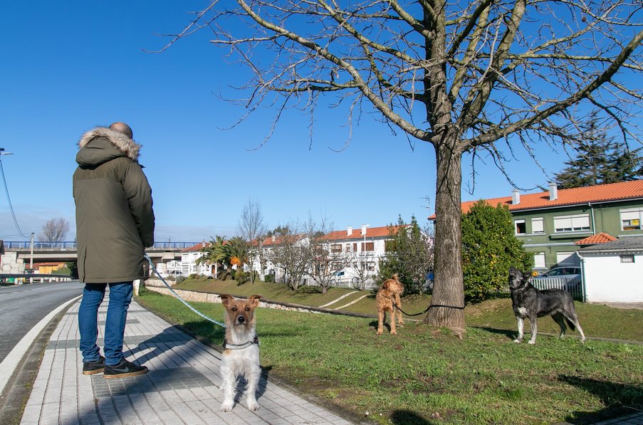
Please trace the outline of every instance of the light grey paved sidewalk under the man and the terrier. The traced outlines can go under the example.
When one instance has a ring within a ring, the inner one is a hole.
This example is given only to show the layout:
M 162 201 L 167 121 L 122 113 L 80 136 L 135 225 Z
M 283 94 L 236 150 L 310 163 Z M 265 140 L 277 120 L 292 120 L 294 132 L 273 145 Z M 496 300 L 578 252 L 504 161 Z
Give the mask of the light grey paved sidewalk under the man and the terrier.
M 100 347 L 107 302 L 106 296 L 98 316 Z M 79 305 L 70 307 L 51 335 L 21 424 L 350 424 L 263 378 L 257 397 L 261 409 L 235 404 L 232 411 L 220 412 L 220 353 L 133 301 L 123 351 L 150 372 L 122 379 L 85 376 L 78 350 Z

